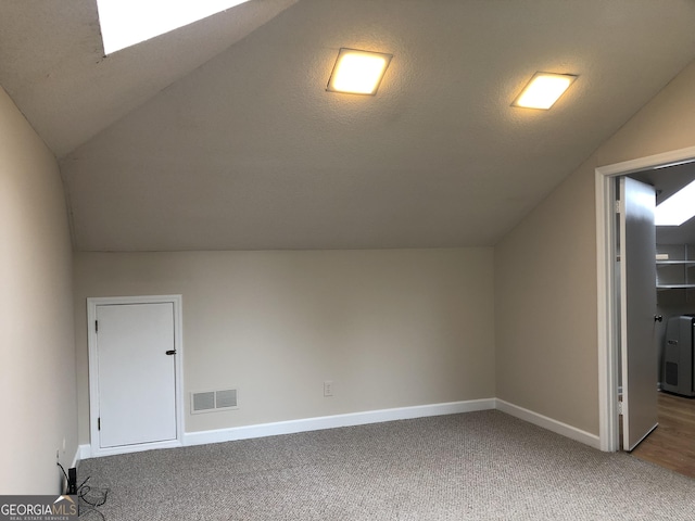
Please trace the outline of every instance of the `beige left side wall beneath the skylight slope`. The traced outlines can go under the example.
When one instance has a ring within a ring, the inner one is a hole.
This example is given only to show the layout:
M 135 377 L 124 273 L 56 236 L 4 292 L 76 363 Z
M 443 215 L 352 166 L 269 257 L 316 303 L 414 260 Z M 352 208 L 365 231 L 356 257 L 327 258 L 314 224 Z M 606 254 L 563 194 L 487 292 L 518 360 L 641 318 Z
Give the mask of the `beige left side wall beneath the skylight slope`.
M 0 494 L 60 492 L 77 450 L 72 247 L 58 164 L 0 88 Z M 65 450 L 63 450 L 65 440 Z

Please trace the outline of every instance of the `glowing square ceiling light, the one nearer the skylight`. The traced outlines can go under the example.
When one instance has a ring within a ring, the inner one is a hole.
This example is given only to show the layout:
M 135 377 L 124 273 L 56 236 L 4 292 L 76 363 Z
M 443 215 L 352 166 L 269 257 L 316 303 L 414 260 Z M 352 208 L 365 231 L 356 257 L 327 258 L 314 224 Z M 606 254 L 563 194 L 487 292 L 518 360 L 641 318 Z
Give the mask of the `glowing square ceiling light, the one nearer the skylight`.
M 374 96 L 392 58 L 382 52 L 340 49 L 326 90 Z

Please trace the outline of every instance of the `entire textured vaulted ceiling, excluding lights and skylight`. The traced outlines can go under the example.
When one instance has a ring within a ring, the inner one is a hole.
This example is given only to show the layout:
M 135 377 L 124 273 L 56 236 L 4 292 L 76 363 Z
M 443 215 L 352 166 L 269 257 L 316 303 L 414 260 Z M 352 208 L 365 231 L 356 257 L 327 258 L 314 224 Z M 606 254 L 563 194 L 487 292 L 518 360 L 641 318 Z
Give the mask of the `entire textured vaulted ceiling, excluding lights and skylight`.
M 93 0 L 0 9 L 81 251 L 491 245 L 695 58 L 692 0 L 252 0 L 105 59 Z M 511 107 L 536 71 L 579 79 Z

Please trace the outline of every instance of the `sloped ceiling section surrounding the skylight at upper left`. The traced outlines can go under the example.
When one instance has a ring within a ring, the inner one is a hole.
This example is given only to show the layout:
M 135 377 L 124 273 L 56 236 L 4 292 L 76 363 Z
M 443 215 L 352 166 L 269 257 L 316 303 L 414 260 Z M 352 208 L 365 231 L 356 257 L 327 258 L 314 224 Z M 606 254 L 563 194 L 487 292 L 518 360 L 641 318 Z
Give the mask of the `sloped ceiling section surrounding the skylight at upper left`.
M 2 0 L 0 85 L 61 156 L 296 0 L 255 0 L 103 58 L 97 0 Z

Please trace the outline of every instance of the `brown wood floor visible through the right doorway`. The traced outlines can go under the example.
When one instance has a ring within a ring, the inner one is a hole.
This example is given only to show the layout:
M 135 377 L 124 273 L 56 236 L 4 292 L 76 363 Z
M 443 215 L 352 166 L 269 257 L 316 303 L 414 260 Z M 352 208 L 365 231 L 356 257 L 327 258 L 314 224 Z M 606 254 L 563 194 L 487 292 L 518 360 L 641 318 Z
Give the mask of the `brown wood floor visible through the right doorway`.
M 695 398 L 659 393 L 659 427 L 631 454 L 695 478 Z

